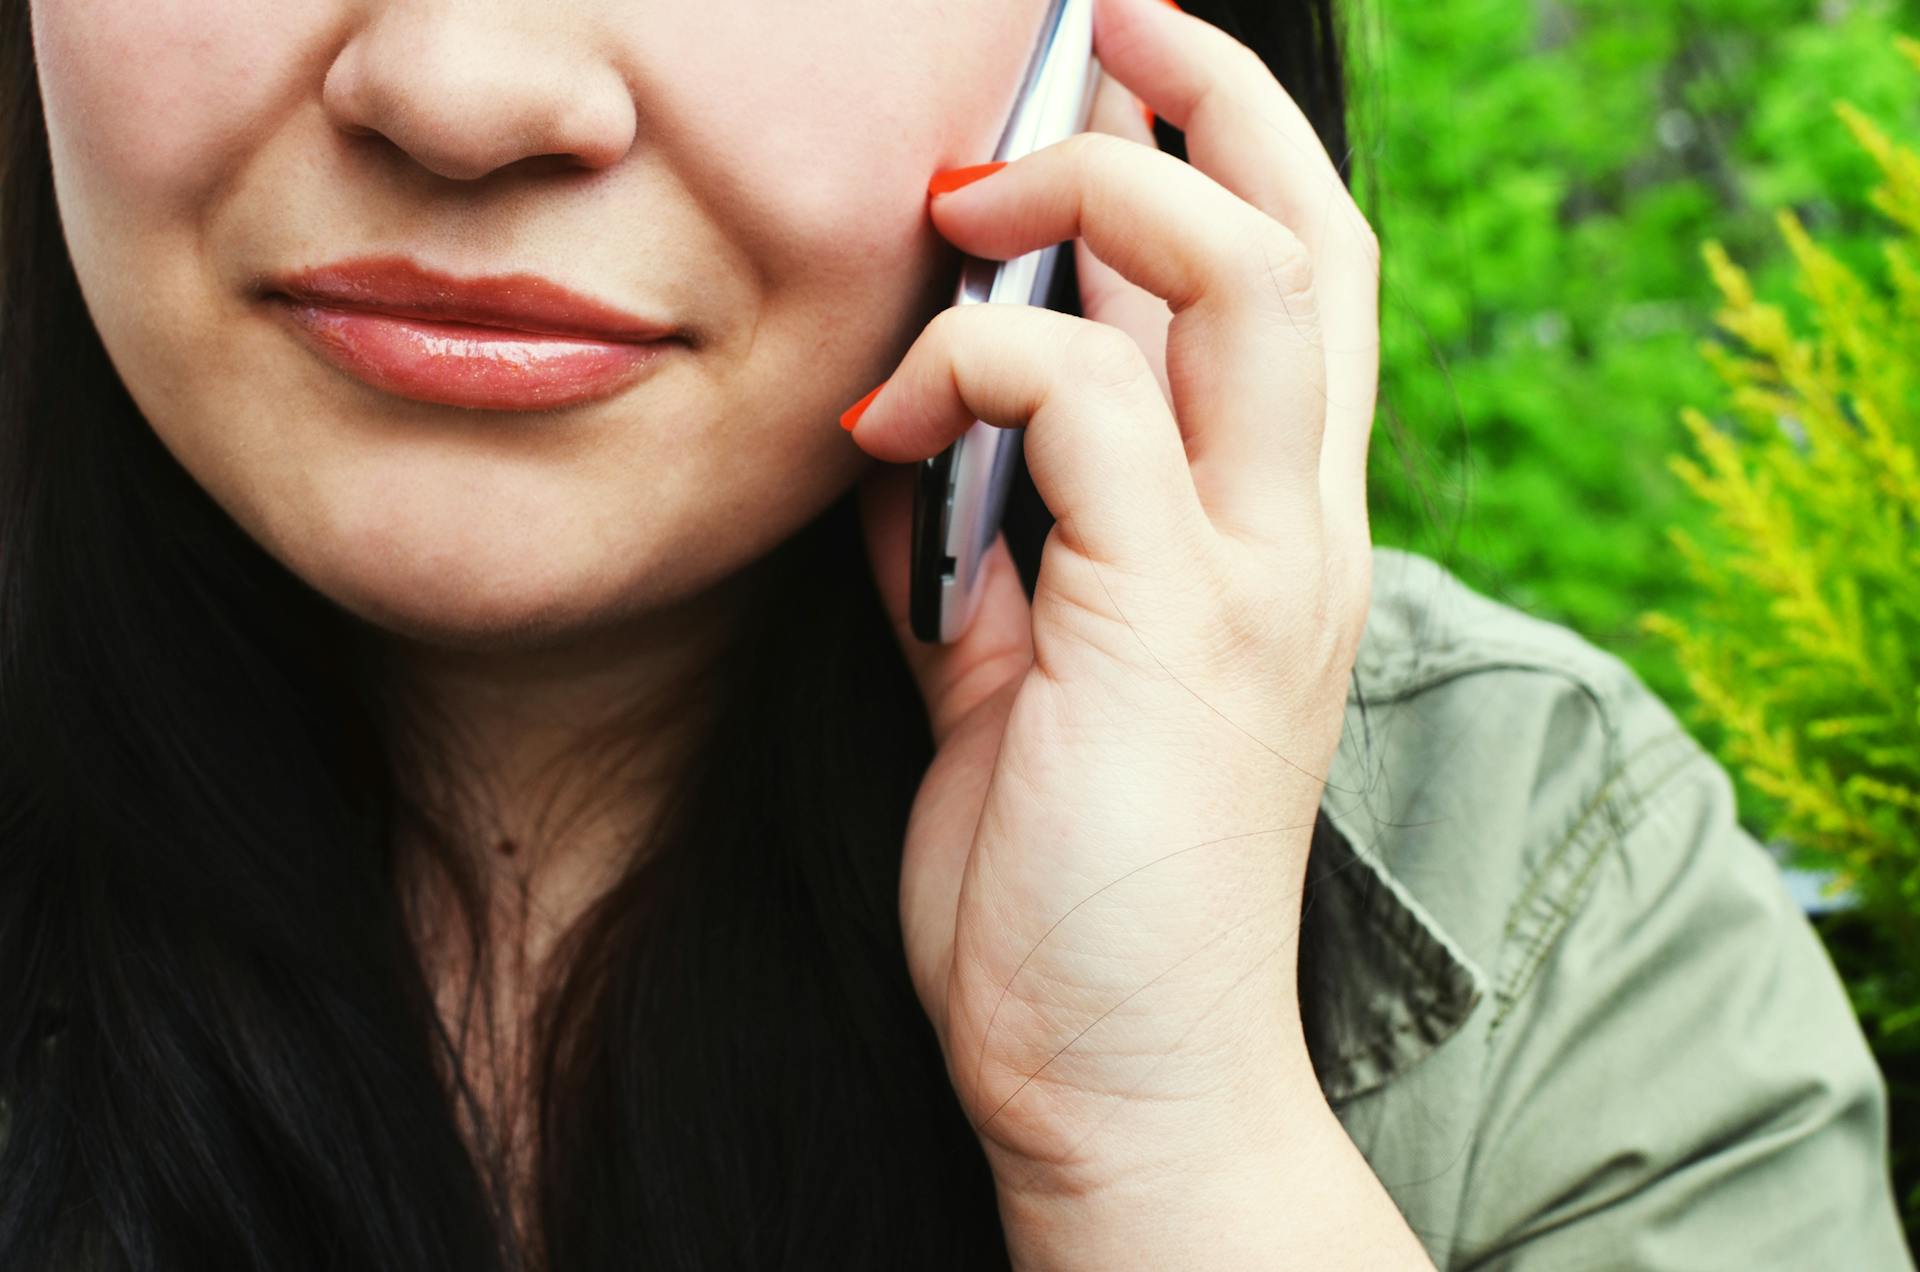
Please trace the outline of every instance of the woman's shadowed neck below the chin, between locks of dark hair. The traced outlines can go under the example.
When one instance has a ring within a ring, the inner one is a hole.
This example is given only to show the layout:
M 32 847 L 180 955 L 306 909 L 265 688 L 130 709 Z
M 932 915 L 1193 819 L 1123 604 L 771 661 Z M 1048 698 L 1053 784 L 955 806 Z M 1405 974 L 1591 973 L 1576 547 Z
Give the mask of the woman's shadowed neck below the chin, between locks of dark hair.
M 733 576 L 672 609 L 495 648 L 388 638 L 401 784 L 442 861 L 468 874 L 488 936 L 538 966 L 551 942 L 632 867 L 708 724 L 716 655 L 743 615 Z M 445 884 L 407 844 L 396 861 L 422 938 Z M 438 899 L 436 899 L 438 897 Z

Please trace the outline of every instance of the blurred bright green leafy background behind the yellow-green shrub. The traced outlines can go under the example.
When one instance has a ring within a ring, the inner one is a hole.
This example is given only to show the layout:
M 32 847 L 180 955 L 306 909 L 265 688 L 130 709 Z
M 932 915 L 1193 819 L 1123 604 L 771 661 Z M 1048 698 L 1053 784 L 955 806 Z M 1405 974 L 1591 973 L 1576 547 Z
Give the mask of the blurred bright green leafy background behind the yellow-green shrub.
M 1797 327 L 1778 211 L 1885 275 L 1882 173 L 1834 104 L 1920 142 L 1895 48 L 1920 0 L 1359 0 L 1348 25 L 1354 186 L 1384 250 L 1375 538 L 1582 632 L 1693 721 L 1642 615 L 1697 609 L 1668 530 L 1711 538 L 1668 467 L 1692 450 L 1682 409 L 1724 404 L 1699 352 L 1722 304 L 1701 246 Z M 1845 911 L 1820 930 L 1859 1003 L 1872 942 Z M 1920 1063 L 1882 1047 L 1882 1064 L 1912 1237 Z

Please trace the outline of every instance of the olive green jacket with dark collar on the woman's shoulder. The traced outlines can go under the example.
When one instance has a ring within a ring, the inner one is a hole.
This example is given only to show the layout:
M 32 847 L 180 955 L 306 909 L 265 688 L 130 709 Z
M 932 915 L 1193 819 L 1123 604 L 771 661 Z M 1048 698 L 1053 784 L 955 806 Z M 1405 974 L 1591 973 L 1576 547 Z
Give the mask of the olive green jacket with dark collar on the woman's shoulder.
M 1834 965 L 1624 663 L 1379 548 L 1321 809 L 1311 1053 L 1440 1268 L 1914 1266 Z

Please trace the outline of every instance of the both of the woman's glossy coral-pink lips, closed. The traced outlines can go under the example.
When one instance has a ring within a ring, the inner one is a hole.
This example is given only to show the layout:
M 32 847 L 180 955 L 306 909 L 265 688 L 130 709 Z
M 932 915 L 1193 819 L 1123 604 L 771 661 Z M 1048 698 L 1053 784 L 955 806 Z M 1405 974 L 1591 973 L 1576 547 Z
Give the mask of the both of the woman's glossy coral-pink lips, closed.
M 538 275 L 455 279 L 407 257 L 357 257 L 269 284 L 313 350 L 401 398 L 540 411 L 607 398 L 676 332 Z

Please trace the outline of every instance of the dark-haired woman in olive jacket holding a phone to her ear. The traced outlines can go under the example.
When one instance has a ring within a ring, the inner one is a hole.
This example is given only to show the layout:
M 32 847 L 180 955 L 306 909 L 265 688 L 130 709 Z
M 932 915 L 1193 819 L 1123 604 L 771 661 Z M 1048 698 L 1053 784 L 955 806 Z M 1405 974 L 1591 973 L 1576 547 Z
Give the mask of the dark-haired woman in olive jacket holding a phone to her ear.
M 8 0 L 0 1266 L 1905 1259 L 1720 771 L 1369 551 L 1325 0 L 983 169 L 1043 10 Z

